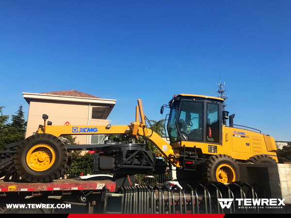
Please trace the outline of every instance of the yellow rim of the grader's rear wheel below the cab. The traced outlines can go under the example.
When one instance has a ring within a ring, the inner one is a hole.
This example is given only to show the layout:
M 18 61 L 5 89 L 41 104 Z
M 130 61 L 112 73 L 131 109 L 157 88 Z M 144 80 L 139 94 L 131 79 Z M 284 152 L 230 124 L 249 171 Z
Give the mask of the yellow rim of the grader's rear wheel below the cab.
M 221 164 L 216 170 L 216 179 L 220 183 L 229 184 L 235 182 L 236 174 L 229 164 Z

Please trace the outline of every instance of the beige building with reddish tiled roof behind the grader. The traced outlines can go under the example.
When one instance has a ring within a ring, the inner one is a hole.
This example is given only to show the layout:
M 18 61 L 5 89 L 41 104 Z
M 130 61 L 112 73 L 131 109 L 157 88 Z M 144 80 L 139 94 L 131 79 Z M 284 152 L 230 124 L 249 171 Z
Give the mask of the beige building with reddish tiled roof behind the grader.
M 25 138 L 43 124 L 42 114 L 49 116 L 52 125 L 108 125 L 107 120 L 116 100 L 104 99 L 75 90 L 50 93 L 22 93 L 29 104 Z M 79 135 L 80 144 L 99 144 L 104 135 Z

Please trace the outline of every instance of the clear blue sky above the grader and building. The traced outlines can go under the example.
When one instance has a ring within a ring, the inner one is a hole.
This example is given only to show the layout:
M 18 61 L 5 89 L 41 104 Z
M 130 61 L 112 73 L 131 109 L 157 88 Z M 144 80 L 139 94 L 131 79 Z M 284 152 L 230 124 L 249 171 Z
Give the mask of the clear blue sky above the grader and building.
M 235 124 L 291 141 L 290 0 L 0 1 L 0 106 L 22 92 L 117 99 L 113 125 L 150 120 L 174 94 L 217 96 Z M 167 112 L 167 111 L 165 111 Z

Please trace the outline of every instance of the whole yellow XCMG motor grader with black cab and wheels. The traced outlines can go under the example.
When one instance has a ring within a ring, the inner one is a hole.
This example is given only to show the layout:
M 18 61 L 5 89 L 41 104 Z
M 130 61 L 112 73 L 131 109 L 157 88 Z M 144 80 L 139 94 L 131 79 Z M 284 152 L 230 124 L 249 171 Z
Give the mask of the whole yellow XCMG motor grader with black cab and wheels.
M 229 184 L 240 181 L 240 163 L 277 162 L 274 138 L 259 130 L 233 124 L 234 114 L 222 111 L 223 99 L 179 94 L 168 105 L 167 136 L 170 143 L 146 127 L 142 101 L 138 100 L 135 121 L 129 125 L 54 126 L 43 115 L 44 125 L 23 140 L 16 149 L 14 165 L 27 182 L 50 182 L 66 173 L 69 150 L 92 150 L 93 171 L 136 174 L 162 173 L 165 164 L 145 144 L 134 143 L 138 137 L 151 141 L 162 157 L 176 167 L 178 180 L 202 180 Z M 226 120 L 229 118 L 229 125 Z M 238 126 L 238 127 L 234 127 Z M 246 130 L 248 128 L 249 130 Z M 65 145 L 61 135 L 121 134 L 129 143 L 107 141 L 102 145 Z

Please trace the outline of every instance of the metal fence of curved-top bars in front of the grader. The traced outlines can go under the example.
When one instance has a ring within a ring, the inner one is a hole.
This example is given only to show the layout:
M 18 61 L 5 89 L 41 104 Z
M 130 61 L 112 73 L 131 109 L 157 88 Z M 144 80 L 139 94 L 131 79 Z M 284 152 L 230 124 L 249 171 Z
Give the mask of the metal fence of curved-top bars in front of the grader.
M 140 214 L 201 214 L 201 213 L 273 213 L 272 209 L 241 205 L 233 199 L 258 199 L 257 193 L 263 193 L 258 184 L 213 184 L 206 186 L 196 184 L 194 187 L 185 185 L 169 188 L 163 186 L 127 186 L 119 187 L 118 193 L 124 194 L 123 213 Z M 218 199 L 232 199 L 230 207 L 220 205 Z

